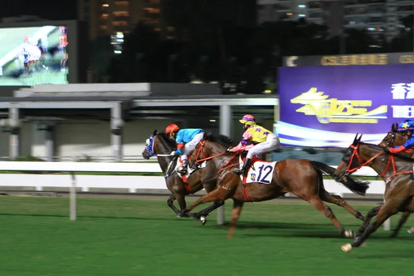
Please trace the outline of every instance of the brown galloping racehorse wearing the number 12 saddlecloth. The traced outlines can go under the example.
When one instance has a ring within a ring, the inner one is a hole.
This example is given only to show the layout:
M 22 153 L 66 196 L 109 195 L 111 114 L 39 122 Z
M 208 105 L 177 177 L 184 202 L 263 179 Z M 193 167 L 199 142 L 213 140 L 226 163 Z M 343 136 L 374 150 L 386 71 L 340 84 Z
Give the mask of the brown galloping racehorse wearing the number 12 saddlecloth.
M 317 210 L 328 217 L 339 233 L 345 237 L 353 237 L 352 230 L 345 230 L 341 224 L 339 224 L 335 215 L 333 215 L 331 208 L 329 208 L 323 201 L 342 206 L 358 219 L 364 220 L 361 213 L 349 206 L 344 199 L 326 192 L 322 172 L 327 172 L 328 174 L 333 175 L 333 172 L 335 171 L 334 168 L 320 162 L 309 161 L 306 159 L 286 159 L 276 163 L 272 172 L 273 178 L 268 184 L 253 182 L 247 184 L 246 190 L 244 190 L 242 180 L 234 173 L 237 166 L 239 166 L 238 160 L 235 158 L 235 155 L 224 155 L 225 150 L 226 146 L 220 144 L 219 140 L 210 135 L 206 135 L 196 146 L 193 155 L 191 155 L 190 163 L 193 165 L 193 163 L 199 159 L 214 157 L 211 163 L 214 164 L 217 170 L 219 170 L 217 188 L 213 190 L 213 192 L 210 192 L 195 201 L 195 203 L 191 204 L 186 211 L 189 212 L 197 205 L 206 202 L 226 200 L 228 198 L 233 199 L 233 215 L 228 230 L 228 237 L 233 236 L 235 224 L 237 223 L 237 219 L 242 211 L 242 206 L 245 201 L 265 201 L 275 199 L 286 193 L 293 193 L 308 201 Z M 236 155 L 238 154 L 236 153 Z M 268 170 L 268 173 L 270 172 L 271 170 Z M 260 178 L 260 176 L 258 178 Z M 367 184 L 354 181 L 353 179 L 342 181 L 342 184 L 354 193 L 359 193 L 360 195 L 364 195 L 368 188 Z M 246 195 L 248 195 L 248 197 L 246 197 Z

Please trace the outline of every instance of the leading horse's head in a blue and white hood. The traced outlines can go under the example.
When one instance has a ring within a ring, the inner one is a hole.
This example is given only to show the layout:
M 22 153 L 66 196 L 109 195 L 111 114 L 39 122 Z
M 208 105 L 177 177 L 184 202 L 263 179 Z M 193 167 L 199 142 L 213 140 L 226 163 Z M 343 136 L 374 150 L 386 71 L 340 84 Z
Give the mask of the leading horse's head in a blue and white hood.
M 148 160 L 152 156 L 168 155 L 175 147 L 175 141 L 154 130 L 150 138 L 146 139 L 146 148 L 142 152 L 142 156 Z

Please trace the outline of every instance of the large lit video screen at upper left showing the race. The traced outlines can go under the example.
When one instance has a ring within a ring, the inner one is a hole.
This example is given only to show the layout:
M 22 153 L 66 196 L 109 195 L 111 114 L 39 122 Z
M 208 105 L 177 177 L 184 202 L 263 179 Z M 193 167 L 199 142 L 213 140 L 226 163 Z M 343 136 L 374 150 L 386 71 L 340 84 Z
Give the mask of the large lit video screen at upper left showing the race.
M 68 83 L 66 26 L 0 28 L 0 86 Z

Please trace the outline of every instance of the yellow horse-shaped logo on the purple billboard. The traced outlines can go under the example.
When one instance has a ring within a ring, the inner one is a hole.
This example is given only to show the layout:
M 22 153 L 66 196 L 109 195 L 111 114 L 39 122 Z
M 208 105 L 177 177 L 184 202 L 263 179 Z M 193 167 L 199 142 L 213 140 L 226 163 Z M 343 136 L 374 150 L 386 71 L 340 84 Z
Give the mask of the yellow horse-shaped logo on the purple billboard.
M 304 106 L 296 110 L 305 115 L 315 115 L 322 124 L 355 123 L 377 124 L 378 119 L 386 119 L 387 106 L 380 106 L 368 111 L 372 106 L 368 100 L 338 100 L 328 99 L 329 95 L 317 92 L 313 87 L 308 92 L 290 100 L 291 103 L 301 103 Z

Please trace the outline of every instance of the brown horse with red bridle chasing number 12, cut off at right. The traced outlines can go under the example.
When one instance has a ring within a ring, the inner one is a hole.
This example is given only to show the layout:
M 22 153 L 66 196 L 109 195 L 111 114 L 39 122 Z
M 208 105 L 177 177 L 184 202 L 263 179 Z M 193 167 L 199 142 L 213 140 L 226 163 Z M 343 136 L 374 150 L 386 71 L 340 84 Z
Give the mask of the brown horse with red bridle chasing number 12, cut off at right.
M 414 159 L 404 155 L 395 155 L 386 152 L 385 148 L 361 142 L 361 136 L 344 153 L 341 163 L 334 173 L 335 179 L 348 177 L 362 168 L 369 166 L 384 179 L 386 188 L 385 203 L 380 206 L 377 217 L 364 230 L 362 235 L 355 237 L 353 244 L 344 244 L 342 250 L 349 252 L 353 247 L 361 244 L 380 227 L 386 219 L 398 212 L 414 212 L 414 182 L 411 180 Z

